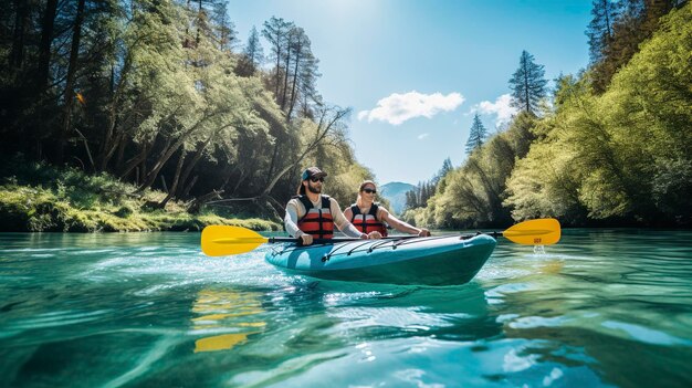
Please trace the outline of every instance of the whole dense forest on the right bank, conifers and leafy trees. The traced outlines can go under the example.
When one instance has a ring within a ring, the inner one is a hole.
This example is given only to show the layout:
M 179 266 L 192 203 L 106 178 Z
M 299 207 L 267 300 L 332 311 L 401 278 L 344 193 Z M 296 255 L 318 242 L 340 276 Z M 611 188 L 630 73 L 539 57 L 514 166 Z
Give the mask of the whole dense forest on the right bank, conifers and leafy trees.
M 692 6 L 595 0 L 590 63 L 547 88 L 523 52 L 508 86 L 516 116 L 468 159 L 408 195 L 405 219 L 434 228 L 692 224 Z

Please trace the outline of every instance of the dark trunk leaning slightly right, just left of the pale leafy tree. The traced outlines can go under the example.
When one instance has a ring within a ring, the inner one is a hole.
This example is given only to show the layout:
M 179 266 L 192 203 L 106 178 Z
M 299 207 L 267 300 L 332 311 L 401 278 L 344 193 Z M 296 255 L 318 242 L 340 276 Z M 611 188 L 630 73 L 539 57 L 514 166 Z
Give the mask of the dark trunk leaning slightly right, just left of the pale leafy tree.
M 65 145 L 72 126 L 72 105 L 74 102 L 74 77 L 77 71 L 77 57 L 80 54 L 80 39 L 82 38 L 82 21 L 84 19 L 84 0 L 77 2 L 77 13 L 74 19 L 74 29 L 72 32 L 72 46 L 70 49 L 70 65 L 67 67 L 67 81 L 65 84 L 63 112 L 63 126 L 57 140 L 56 162 L 61 165 L 64 159 Z

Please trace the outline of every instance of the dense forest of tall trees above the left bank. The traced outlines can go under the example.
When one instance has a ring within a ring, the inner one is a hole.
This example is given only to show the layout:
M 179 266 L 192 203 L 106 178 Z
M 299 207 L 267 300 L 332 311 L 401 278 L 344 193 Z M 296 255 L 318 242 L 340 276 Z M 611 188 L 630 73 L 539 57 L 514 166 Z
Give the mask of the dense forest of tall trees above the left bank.
M 3 166 L 107 176 L 128 197 L 164 192 L 141 202 L 153 209 L 276 219 L 302 169 L 318 165 L 328 193 L 353 201 L 371 172 L 347 141 L 350 109 L 315 87 L 310 38 L 271 18 L 239 42 L 227 3 L 1 2 Z M 51 183 L 0 170 L 3 185 Z

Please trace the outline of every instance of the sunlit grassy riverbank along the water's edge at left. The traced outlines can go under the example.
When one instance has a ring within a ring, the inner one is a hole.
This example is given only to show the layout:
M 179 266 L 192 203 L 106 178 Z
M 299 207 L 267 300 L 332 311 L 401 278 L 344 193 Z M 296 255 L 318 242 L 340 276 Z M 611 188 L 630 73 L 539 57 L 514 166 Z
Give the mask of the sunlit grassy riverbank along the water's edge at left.
M 108 175 L 87 175 L 44 164 L 2 164 L 0 168 L 0 232 L 145 232 L 198 231 L 209 224 L 252 230 L 281 230 L 275 221 L 186 210 L 162 191 L 137 192 L 133 185 Z

